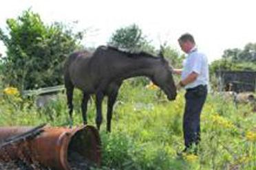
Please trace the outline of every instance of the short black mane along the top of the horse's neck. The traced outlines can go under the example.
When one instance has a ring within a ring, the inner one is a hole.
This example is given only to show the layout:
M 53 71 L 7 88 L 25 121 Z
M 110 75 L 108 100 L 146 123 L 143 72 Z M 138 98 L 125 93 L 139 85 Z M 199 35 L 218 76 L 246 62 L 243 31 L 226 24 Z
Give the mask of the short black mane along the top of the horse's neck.
M 125 56 L 127 56 L 129 58 L 138 58 L 138 57 L 158 58 L 158 57 L 153 56 L 152 54 L 147 53 L 145 51 L 131 52 L 131 51 L 127 51 L 126 49 L 118 49 L 118 47 L 113 47 L 110 45 L 108 45 L 107 47 L 106 46 L 101 46 L 101 47 L 103 47 L 105 49 L 111 49 L 114 51 L 118 51 L 119 53 L 125 54 Z

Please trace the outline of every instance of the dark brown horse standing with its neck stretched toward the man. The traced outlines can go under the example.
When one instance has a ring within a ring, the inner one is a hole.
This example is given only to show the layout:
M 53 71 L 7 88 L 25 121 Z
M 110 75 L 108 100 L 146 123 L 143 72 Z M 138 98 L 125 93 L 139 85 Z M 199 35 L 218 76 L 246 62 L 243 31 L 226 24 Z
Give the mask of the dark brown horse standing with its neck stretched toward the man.
M 129 77 L 147 76 L 158 85 L 169 100 L 176 97 L 171 67 L 167 60 L 149 53 L 130 53 L 114 47 L 100 46 L 94 51 L 72 53 L 65 62 L 65 88 L 67 105 L 70 109 L 72 125 L 72 96 L 74 87 L 83 91 L 81 109 L 83 123 L 87 124 L 87 101 L 90 95 L 96 95 L 96 125 L 98 130 L 102 123 L 102 101 L 107 95 L 107 131 L 111 130 L 111 117 L 114 103 L 122 80 Z

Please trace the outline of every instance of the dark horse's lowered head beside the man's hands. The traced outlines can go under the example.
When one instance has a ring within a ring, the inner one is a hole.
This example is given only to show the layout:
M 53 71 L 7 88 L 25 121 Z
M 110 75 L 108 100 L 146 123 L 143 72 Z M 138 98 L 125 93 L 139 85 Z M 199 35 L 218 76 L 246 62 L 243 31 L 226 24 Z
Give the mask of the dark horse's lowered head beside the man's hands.
M 160 62 L 155 67 L 154 75 L 151 80 L 154 84 L 158 85 L 169 100 L 176 98 L 176 86 L 173 80 L 172 67 L 169 66 L 168 61 L 164 58 L 162 51 L 160 51 Z

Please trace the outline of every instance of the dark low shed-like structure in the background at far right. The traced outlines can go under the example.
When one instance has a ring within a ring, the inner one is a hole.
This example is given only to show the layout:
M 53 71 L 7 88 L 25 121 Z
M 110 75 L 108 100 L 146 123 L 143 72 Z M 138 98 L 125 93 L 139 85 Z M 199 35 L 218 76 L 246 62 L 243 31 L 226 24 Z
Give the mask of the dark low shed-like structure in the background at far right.
M 237 93 L 256 90 L 256 71 L 216 71 L 215 75 L 220 90 Z

